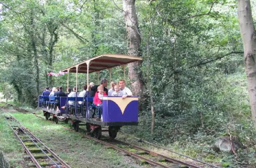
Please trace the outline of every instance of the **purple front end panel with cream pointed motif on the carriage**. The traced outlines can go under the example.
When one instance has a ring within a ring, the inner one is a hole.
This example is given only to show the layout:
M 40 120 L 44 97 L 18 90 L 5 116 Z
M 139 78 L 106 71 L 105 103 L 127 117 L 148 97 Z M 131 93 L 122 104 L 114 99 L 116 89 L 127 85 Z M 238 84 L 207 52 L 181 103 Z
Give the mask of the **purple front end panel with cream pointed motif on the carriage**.
M 103 122 L 138 122 L 138 97 L 103 97 Z

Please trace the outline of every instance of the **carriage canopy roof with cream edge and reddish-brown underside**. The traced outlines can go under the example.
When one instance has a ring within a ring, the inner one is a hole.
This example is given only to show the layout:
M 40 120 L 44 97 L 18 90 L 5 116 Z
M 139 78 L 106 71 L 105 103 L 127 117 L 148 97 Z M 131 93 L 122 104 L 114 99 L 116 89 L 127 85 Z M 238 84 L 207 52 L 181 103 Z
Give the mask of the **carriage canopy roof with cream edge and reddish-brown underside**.
M 68 69 L 69 69 L 69 72 L 76 73 L 76 67 L 78 66 L 78 73 L 87 73 L 87 63 L 89 63 L 90 64 L 89 73 L 92 73 L 92 72 L 97 72 L 104 69 L 109 69 L 116 66 L 128 64 L 131 62 L 136 62 L 139 60 L 142 60 L 142 58 L 138 56 L 128 56 L 128 55 L 122 55 L 122 54 L 102 54 L 102 55 L 84 60 L 83 62 L 80 62 L 76 65 L 65 68 L 64 70 L 61 70 L 61 72 L 68 72 Z

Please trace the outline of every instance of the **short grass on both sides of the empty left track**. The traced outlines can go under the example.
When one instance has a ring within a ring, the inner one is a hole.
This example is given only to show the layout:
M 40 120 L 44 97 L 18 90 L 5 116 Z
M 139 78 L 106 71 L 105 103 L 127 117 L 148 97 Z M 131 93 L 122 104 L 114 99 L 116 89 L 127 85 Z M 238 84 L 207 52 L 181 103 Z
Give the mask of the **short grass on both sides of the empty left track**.
M 0 104 L 1 106 L 1 104 Z M 0 149 L 11 166 L 19 167 L 18 160 L 23 160 L 22 148 L 12 131 L 7 126 L 2 113 L 0 117 Z M 125 159 L 118 151 L 86 139 L 81 134 L 64 129 L 69 125 L 37 118 L 34 114 L 11 113 L 23 126 L 65 160 L 72 168 L 130 168 L 140 167 Z M 10 156 L 12 155 L 12 156 Z

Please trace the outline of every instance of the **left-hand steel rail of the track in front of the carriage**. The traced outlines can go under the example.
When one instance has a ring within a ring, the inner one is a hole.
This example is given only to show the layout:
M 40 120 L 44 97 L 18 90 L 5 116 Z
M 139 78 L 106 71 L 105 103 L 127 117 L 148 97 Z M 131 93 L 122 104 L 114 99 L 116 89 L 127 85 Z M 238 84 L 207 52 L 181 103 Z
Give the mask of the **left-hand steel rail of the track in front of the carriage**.
M 108 143 L 108 142 L 104 142 L 104 141 L 102 141 L 102 140 L 98 140 L 98 139 L 92 138 L 92 137 L 90 137 L 90 136 L 86 136 L 86 138 L 88 138 L 88 139 L 90 139 L 90 140 L 94 140 L 94 141 L 96 141 L 96 142 L 98 142 L 98 143 L 100 143 L 100 144 L 104 144 L 104 145 L 106 145 L 106 146 L 111 146 L 112 148 L 114 148 L 114 149 L 116 149 L 116 150 L 119 150 L 120 152 L 124 152 L 124 153 L 126 153 L 126 154 L 128 154 L 128 155 L 130 155 L 130 156 L 135 157 L 135 158 L 139 158 L 139 159 L 145 160 L 145 162 L 150 163 L 150 164 L 152 164 L 152 165 L 154 165 L 154 166 L 160 166 L 160 167 L 163 167 L 163 168 L 172 168 L 172 167 L 170 167 L 170 166 L 167 166 L 167 165 L 164 165 L 164 164 L 155 162 L 154 160 L 150 160 L 150 159 L 148 159 L 148 158 L 145 158 L 145 157 L 143 157 L 143 156 L 140 156 L 140 155 L 138 155 L 138 154 L 134 154 L 133 152 L 130 152 L 130 151 L 128 151 L 128 150 L 119 148 L 118 146 L 115 146 L 115 145 L 110 144 L 110 143 Z M 201 168 L 201 167 L 198 167 L 198 168 Z

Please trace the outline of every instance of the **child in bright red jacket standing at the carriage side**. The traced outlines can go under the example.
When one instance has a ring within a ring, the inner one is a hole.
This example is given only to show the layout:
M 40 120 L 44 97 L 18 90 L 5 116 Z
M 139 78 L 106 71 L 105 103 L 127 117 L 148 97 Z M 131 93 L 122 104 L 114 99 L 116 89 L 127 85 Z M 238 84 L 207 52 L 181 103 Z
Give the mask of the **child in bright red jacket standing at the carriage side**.
M 94 96 L 94 104 L 98 107 L 100 107 L 100 110 L 97 111 L 97 121 L 100 121 L 101 119 L 101 112 L 102 112 L 102 100 L 103 96 L 107 96 L 107 94 L 104 92 L 103 86 L 98 86 L 98 92 Z

